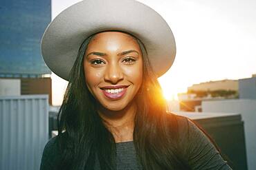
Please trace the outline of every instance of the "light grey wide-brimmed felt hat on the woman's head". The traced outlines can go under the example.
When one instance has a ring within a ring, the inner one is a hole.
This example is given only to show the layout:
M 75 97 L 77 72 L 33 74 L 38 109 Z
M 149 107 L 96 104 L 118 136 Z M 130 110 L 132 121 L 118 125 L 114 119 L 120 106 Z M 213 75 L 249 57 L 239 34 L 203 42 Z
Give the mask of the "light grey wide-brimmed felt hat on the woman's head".
M 120 30 L 140 39 L 157 76 L 172 66 L 176 54 L 172 30 L 158 12 L 134 0 L 84 0 L 66 8 L 42 37 L 46 65 L 68 81 L 83 41 L 107 30 Z

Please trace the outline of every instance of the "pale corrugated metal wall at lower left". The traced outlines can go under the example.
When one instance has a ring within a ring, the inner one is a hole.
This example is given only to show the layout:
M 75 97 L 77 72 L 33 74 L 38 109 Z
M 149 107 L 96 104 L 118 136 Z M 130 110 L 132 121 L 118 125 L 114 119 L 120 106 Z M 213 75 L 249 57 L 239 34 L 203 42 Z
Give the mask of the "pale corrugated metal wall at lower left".
M 0 169 L 39 169 L 47 141 L 47 95 L 0 97 Z

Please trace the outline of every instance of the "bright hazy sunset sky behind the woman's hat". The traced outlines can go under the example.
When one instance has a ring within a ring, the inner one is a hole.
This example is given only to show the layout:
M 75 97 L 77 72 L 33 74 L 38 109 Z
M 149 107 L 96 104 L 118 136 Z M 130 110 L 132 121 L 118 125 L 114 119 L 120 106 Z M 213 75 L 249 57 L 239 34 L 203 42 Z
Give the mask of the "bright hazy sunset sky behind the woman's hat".
M 256 74 L 256 1 L 139 1 L 161 14 L 176 40 L 174 65 L 158 78 L 166 98 L 195 83 Z M 53 19 L 76 2 L 52 0 Z M 60 105 L 67 82 L 55 74 L 52 79 L 53 105 Z

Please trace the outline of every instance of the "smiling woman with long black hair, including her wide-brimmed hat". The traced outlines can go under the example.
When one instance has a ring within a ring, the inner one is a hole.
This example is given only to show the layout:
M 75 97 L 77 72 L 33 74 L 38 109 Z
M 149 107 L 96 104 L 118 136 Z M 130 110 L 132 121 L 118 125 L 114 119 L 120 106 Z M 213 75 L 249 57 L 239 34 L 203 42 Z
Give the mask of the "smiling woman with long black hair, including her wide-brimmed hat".
M 64 10 L 42 39 L 46 64 L 69 83 L 40 169 L 230 169 L 199 127 L 166 112 L 157 77 L 175 51 L 167 23 L 137 1 Z

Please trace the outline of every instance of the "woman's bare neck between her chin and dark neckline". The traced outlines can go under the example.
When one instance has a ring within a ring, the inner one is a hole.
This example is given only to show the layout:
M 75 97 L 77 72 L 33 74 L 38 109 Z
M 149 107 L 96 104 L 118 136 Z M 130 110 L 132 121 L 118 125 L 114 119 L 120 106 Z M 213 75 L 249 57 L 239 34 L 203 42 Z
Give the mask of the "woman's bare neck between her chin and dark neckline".
M 116 142 L 133 140 L 136 103 L 131 103 L 125 107 L 125 109 L 118 111 L 100 107 L 98 113 L 104 125 L 111 131 L 111 134 L 113 134 Z

